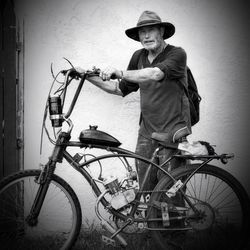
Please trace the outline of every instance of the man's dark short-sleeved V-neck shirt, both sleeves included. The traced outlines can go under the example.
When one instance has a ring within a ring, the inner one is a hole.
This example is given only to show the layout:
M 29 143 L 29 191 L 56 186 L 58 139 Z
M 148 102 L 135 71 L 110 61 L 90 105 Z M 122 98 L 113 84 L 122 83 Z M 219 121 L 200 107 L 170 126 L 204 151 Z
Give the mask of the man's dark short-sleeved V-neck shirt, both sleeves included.
M 153 132 L 174 133 L 184 127 L 191 132 L 189 101 L 183 87 L 187 86 L 186 53 L 180 47 L 171 46 L 170 49 L 168 46 L 152 63 L 148 61 L 147 50 L 137 50 L 127 68 L 158 67 L 164 72 L 162 80 L 133 83 L 123 79 L 119 84 L 123 96 L 140 89 L 139 133 L 146 138 Z

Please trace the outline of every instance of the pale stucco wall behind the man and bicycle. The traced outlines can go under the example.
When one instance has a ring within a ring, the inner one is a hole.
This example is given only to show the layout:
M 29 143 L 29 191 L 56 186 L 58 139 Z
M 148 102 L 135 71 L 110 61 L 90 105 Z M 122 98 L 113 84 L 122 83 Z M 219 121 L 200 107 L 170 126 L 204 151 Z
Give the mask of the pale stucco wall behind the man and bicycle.
M 16 0 L 16 12 L 25 31 L 25 168 L 39 165 L 40 131 L 47 92 L 55 72 L 68 68 L 63 60 L 90 69 L 114 65 L 125 69 L 140 44 L 124 30 L 136 25 L 144 10 L 156 11 L 176 26 L 169 43 L 183 47 L 196 78 L 201 121 L 190 140 L 216 145 L 218 153 L 233 152 L 225 167 L 250 190 L 248 155 L 249 115 L 249 8 L 238 0 Z M 134 150 L 139 118 L 138 94 L 124 99 L 86 83 L 76 109 L 73 139 L 89 124 L 118 138 Z M 45 142 L 47 142 L 45 140 Z M 44 147 L 45 163 L 51 147 Z M 62 164 L 64 166 L 64 164 Z M 89 189 L 68 168 L 67 180 L 81 200 Z M 91 193 L 92 194 L 92 193 Z M 92 200 L 82 202 L 88 208 Z

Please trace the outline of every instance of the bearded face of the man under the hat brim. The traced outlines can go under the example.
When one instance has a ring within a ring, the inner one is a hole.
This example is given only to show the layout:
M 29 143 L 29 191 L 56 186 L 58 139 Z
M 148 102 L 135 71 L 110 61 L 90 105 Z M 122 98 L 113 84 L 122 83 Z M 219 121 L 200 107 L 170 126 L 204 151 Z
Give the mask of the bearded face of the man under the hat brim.
M 139 38 L 146 50 L 157 50 L 164 41 L 164 28 L 158 26 L 146 26 L 139 29 Z

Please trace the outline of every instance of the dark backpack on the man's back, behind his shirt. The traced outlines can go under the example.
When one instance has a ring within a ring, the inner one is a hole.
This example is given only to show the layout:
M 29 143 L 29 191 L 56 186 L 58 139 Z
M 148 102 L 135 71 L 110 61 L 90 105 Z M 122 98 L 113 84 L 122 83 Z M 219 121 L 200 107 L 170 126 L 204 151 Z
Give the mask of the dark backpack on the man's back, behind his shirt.
M 201 97 L 198 93 L 196 82 L 189 67 L 187 67 L 187 82 L 188 88 L 185 88 L 185 92 L 189 100 L 191 125 L 193 126 L 200 120 Z

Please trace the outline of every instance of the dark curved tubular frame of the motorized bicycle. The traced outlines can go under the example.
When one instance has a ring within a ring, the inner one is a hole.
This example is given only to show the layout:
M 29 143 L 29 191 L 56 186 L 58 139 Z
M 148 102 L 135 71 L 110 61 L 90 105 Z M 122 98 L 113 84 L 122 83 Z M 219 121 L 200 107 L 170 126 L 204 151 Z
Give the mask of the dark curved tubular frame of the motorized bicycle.
M 108 152 L 111 152 L 109 154 L 104 154 L 104 155 L 101 155 L 101 156 L 98 156 L 98 157 L 95 157 L 93 159 L 90 159 L 88 161 L 85 161 L 84 163 L 81 163 L 79 164 L 78 162 L 76 162 L 73 158 L 73 156 L 66 150 L 68 147 L 77 147 L 77 148 L 98 148 L 98 149 L 103 149 L 103 150 L 106 150 Z M 61 162 L 62 159 L 64 158 L 76 171 L 78 171 L 86 180 L 87 182 L 89 183 L 89 185 L 92 187 L 95 195 L 97 197 L 99 197 L 102 192 L 100 191 L 98 185 L 96 184 L 95 180 L 91 177 L 91 175 L 85 170 L 85 166 L 88 166 L 94 162 L 99 162 L 101 160 L 104 160 L 104 159 L 108 159 L 108 158 L 133 158 L 134 160 L 141 160 L 142 162 L 145 162 L 148 164 L 148 168 L 147 168 L 147 171 L 146 171 L 146 174 L 144 176 L 144 179 L 141 181 L 141 186 L 140 186 L 140 189 L 139 191 L 136 193 L 136 197 L 135 197 L 135 200 L 140 200 L 141 196 L 142 196 L 142 191 L 144 190 L 144 186 L 145 186 L 145 183 L 148 181 L 148 178 L 149 178 L 149 173 L 151 171 L 151 168 L 152 167 L 156 167 L 158 170 L 162 171 L 164 174 L 166 174 L 166 176 L 168 176 L 169 178 L 171 178 L 174 183 L 176 183 L 178 180 L 176 180 L 169 172 L 167 172 L 163 167 L 168 163 L 170 162 L 173 158 L 175 157 L 184 157 L 184 158 L 193 158 L 193 156 L 180 156 L 180 155 L 173 155 L 171 157 L 169 157 L 167 160 L 165 160 L 161 165 L 158 165 L 155 163 L 155 159 L 157 157 L 157 153 L 159 151 L 160 147 L 158 147 L 152 158 L 149 160 L 147 158 L 144 158 L 142 156 L 139 156 L 129 150 L 126 150 L 126 149 L 123 149 L 123 148 L 120 148 L 120 147 L 109 147 L 109 146 L 103 146 L 103 145 L 97 145 L 97 144 L 86 144 L 86 143 L 82 143 L 82 142 L 78 142 L 78 141 L 70 141 L 70 135 L 68 133 L 61 133 L 59 135 L 59 138 L 57 140 L 57 143 L 56 143 L 56 146 L 53 150 L 53 153 L 50 157 L 50 162 L 48 163 L 49 164 L 49 168 L 51 170 L 51 174 L 52 172 L 54 172 L 54 169 L 55 169 L 55 164 L 57 162 Z M 200 165 L 199 168 L 197 168 L 196 171 L 198 171 L 202 166 L 206 165 L 208 162 L 210 162 L 211 160 L 215 159 L 215 158 L 219 158 L 220 156 L 213 156 L 213 157 L 210 157 L 210 158 L 204 158 L 206 160 L 204 160 L 204 162 Z M 196 159 L 201 159 L 202 157 L 195 157 Z M 196 172 L 194 171 L 193 174 Z M 192 175 L 193 175 L 192 174 Z M 187 180 L 185 180 L 184 184 L 192 177 L 189 176 L 189 178 Z M 39 207 L 39 204 L 42 204 L 42 200 L 44 199 L 45 197 L 45 194 L 46 194 L 46 187 L 48 186 L 49 184 L 47 183 L 44 188 L 43 188 L 43 192 L 42 194 L 40 195 L 40 193 L 38 193 L 38 197 L 40 196 L 40 198 L 37 198 L 37 200 L 39 201 L 38 202 L 38 207 Z M 184 199 L 188 202 L 188 204 L 192 206 L 192 203 L 189 202 L 189 200 L 185 197 L 185 195 L 183 196 Z M 102 203 L 102 205 L 104 207 L 109 207 L 109 211 L 121 218 L 121 219 L 124 219 L 126 220 L 127 216 L 123 215 L 122 213 L 120 213 L 119 211 L 113 209 L 112 207 L 109 206 L 109 203 L 108 201 L 106 201 L 106 199 L 104 197 L 102 197 L 100 199 L 100 202 Z M 134 213 L 136 212 L 136 209 L 137 209 L 137 206 L 138 205 L 134 205 L 132 207 L 132 210 L 130 211 L 130 216 L 133 216 Z M 195 208 L 193 208 L 194 211 L 196 210 Z M 37 213 L 33 213 L 34 215 L 36 215 Z M 145 219 L 136 219 L 136 221 L 144 221 Z

